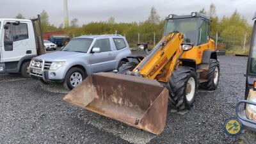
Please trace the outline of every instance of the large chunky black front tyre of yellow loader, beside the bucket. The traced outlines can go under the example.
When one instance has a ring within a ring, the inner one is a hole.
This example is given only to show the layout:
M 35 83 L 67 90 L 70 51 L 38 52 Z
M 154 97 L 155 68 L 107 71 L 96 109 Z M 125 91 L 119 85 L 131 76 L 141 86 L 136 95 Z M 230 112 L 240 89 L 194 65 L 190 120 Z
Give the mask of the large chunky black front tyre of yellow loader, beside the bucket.
M 188 100 L 187 95 L 187 84 L 189 79 L 194 79 L 195 85 L 189 84 L 191 99 Z M 198 79 L 194 68 L 191 67 L 179 67 L 173 70 L 172 76 L 169 78 L 167 83 L 167 88 L 169 90 L 169 105 L 174 109 L 191 109 L 193 103 L 195 102 L 195 97 L 198 89 Z

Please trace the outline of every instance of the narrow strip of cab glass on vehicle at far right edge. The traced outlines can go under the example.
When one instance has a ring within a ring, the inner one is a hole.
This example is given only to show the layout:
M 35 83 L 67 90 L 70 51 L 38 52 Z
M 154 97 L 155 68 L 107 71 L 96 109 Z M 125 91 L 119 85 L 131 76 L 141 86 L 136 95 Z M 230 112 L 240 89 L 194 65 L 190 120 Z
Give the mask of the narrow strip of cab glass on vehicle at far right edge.
M 253 28 L 253 41 L 252 41 L 252 56 L 251 56 L 251 65 L 250 72 L 256 74 L 256 22 L 254 23 Z

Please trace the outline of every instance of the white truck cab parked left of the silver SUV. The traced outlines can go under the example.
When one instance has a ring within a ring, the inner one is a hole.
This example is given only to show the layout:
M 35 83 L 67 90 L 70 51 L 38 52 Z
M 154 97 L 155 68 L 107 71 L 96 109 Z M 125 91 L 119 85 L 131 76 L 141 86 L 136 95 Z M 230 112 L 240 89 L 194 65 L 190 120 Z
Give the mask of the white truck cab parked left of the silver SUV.
M 39 26 L 38 36 L 35 22 Z M 0 19 L 0 74 L 20 73 L 29 77 L 31 59 L 45 54 L 41 38 L 40 15 L 31 20 Z

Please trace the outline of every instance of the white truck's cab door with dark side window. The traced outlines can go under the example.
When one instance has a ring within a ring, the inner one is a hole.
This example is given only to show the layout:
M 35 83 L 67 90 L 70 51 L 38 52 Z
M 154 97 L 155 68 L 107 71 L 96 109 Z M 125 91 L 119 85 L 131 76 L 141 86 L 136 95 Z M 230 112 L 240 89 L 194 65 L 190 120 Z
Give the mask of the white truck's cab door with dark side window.
M 3 30 L 3 61 L 19 61 L 31 54 L 28 23 L 5 21 Z

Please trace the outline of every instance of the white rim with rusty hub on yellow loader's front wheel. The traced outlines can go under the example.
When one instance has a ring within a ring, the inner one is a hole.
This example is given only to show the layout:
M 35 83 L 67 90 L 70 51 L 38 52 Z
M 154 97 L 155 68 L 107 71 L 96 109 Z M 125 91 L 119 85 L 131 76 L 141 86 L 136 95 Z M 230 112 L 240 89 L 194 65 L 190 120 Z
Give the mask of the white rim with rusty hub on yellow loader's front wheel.
M 191 101 L 195 95 L 196 83 L 193 77 L 190 77 L 186 85 L 186 99 Z

